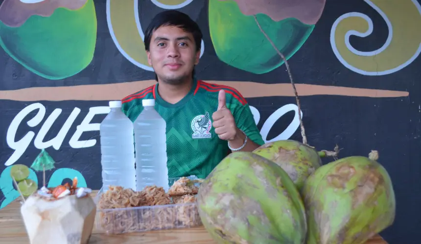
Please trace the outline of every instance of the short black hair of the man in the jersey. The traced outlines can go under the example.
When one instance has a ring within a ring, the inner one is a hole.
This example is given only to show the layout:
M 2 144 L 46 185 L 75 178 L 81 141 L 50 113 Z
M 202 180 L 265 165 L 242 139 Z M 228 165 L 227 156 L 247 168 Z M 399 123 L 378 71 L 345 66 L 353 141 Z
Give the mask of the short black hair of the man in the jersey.
M 196 52 L 200 51 L 202 46 L 202 32 L 200 31 L 199 25 L 192 20 L 187 14 L 177 10 L 166 10 L 157 15 L 151 20 L 148 27 L 145 30 L 145 50 L 149 51 L 152 34 L 155 30 L 162 26 L 177 26 L 184 31 L 193 35 L 193 40 L 196 46 Z M 193 74 L 194 76 L 194 69 Z M 156 80 L 158 77 L 155 75 Z

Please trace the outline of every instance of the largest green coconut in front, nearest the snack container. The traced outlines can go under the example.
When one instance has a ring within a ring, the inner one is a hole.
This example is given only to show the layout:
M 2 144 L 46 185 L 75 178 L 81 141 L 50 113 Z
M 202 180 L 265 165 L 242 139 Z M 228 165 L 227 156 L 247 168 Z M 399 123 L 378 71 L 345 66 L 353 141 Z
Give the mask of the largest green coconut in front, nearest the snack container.
M 288 174 L 251 152 L 233 152 L 203 181 L 202 223 L 219 244 L 303 244 L 304 203 Z

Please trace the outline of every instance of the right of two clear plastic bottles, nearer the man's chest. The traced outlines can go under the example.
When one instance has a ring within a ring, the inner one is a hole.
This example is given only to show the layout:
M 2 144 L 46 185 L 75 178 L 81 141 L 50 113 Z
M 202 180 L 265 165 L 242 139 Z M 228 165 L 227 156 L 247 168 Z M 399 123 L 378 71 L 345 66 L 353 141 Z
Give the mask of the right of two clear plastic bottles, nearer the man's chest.
M 156 185 L 168 191 L 166 166 L 166 123 L 155 110 L 155 100 L 142 100 L 143 111 L 134 122 L 136 148 L 136 188 Z

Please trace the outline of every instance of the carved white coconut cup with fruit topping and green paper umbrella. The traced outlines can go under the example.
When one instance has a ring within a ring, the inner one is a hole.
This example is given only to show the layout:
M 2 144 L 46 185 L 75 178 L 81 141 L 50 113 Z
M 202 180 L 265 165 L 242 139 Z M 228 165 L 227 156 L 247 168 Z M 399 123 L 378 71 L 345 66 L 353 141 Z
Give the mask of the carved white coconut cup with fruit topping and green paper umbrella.
M 96 205 L 89 194 L 56 199 L 35 192 L 23 203 L 21 214 L 31 244 L 87 244 Z

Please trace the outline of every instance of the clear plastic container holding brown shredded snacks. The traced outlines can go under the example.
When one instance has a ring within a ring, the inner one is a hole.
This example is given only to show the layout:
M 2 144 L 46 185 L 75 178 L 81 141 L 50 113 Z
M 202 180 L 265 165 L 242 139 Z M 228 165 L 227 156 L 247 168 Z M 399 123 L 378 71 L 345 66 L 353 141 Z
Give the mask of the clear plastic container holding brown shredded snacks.
M 197 180 L 197 177 L 187 177 Z M 174 183 L 179 178 L 170 178 Z M 94 198 L 96 204 L 103 189 Z M 96 229 L 106 234 L 123 234 L 202 225 L 196 203 L 167 204 L 96 210 Z

